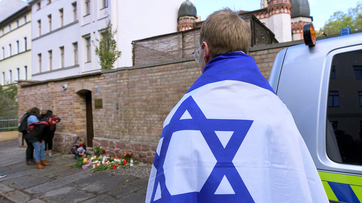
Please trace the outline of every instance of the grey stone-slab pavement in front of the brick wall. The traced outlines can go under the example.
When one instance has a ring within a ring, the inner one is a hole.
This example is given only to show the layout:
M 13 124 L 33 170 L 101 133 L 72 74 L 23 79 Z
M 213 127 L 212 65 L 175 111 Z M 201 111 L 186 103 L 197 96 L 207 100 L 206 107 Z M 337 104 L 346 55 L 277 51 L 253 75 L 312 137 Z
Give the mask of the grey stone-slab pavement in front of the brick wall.
M 0 203 L 144 202 L 152 164 L 91 172 L 69 169 L 73 155 L 53 153 L 43 169 L 26 165 L 25 148 L 0 146 Z

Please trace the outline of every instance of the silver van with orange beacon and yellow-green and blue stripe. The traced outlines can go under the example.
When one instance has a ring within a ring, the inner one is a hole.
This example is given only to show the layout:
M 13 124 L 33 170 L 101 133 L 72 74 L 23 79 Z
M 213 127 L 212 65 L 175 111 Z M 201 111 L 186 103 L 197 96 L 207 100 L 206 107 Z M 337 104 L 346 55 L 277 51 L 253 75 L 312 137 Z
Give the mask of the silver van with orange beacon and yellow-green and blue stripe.
M 305 44 L 275 58 L 269 83 L 286 104 L 330 202 L 362 202 L 362 33 Z

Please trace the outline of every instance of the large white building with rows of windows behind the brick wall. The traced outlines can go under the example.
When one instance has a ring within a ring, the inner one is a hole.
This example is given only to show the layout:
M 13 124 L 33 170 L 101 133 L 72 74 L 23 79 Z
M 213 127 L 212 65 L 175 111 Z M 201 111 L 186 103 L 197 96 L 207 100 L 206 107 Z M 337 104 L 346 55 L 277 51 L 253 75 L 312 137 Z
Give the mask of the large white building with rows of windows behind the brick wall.
M 100 71 L 92 42 L 100 39 L 108 19 L 118 30 L 114 38 L 122 52 L 114 68 L 132 66 L 131 42 L 176 32 L 183 1 L 29 0 L 33 80 Z

